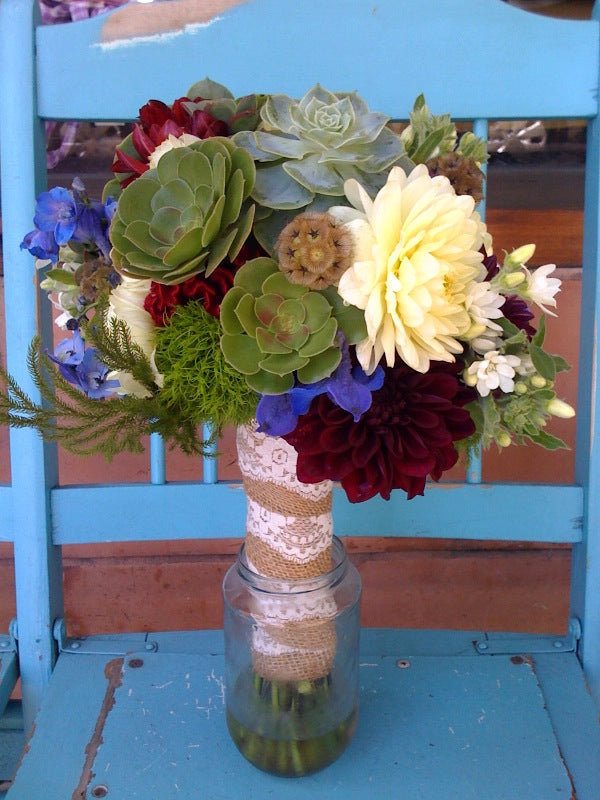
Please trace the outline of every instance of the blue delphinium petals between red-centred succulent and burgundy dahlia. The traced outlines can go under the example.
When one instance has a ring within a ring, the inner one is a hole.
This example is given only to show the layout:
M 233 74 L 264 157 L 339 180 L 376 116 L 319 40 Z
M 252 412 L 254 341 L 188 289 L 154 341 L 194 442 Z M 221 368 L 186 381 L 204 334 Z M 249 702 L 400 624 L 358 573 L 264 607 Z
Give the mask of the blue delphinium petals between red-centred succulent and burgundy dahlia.
M 316 383 L 298 383 L 289 392 L 280 395 L 263 395 L 256 408 L 256 420 L 260 433 L 285 436 L 291 433 L 301 414 L 306 414 L 313 398 L 327 394 L 344 411 L 352 414 L 358 422 L 371 406 L 371 393 L 383 386 L 384 371 L 378 366 L 372 375 L 367 375 L 360 365 L 352 366 L 346 339 L 338 334 L 342 360 L 328 378 Z

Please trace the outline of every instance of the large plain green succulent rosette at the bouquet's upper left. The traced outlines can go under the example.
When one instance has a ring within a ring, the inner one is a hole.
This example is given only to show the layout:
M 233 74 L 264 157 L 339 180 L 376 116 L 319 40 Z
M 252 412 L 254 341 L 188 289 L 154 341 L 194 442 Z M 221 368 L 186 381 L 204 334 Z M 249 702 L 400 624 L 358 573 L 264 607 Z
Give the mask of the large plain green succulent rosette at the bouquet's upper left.
M 127 186 L 110 227 L 124 275 L 176 284 L 233 259 L 254 220 L 250 155 L 213 137 L 176 147 Z

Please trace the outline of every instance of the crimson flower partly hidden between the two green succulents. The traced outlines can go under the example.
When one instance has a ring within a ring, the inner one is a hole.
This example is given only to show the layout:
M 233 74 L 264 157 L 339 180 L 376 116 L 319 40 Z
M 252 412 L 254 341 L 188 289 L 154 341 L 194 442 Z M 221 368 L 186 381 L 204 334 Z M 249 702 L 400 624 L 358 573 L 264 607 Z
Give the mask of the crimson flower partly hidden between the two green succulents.
M 144 308 L 158 327 L 167 323 L 177 306 L 192 300 L 199 300 L 209 314 L 218 317 L 223 297 L 233 286 L 234 275 L 235 267 L 225 264 L 218 266 L 208 277 L 193 275 L 174 286 L 152 281 Z

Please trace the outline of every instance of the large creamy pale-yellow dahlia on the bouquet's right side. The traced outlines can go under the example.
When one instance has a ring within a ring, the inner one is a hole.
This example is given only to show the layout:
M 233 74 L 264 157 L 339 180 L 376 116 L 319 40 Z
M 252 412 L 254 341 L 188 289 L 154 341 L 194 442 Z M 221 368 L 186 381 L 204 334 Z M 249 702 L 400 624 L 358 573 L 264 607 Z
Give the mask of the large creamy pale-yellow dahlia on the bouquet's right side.
M 368 374 L 396 354 L 418 372 L 430 361 L 454 361 L 471 327 L 469 287 L 481 281 L 489 239 L 471 197 L 459 197 L 444 176 L 419 165 L 410 175 L 394 167 L 371 200 L 356 180 L 346 181 L 354 208 L 329 210 L 354 239 L 354 261 L 338 292 L 364 309 L 367 338 L 356 347 Z

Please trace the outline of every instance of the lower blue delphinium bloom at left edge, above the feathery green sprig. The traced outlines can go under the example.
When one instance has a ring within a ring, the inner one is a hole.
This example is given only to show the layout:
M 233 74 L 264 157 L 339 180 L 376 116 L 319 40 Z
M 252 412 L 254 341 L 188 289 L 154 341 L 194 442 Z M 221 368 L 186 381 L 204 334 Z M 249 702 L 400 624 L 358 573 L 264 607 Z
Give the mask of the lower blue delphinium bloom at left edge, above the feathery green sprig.
M 79 330 L 70 339 L 63 339 L 54 353 L 47 353 L 60 374 L 94 400 L 108 397 L 119 386 L 117 380 L 107 380 L 108 367 L 103 364 L 93 347 L 85 347 Z

